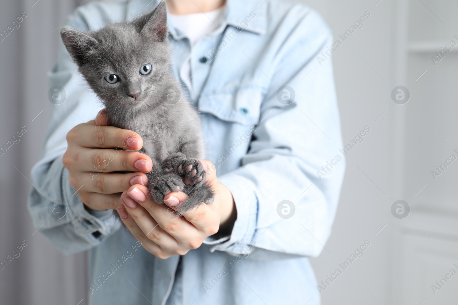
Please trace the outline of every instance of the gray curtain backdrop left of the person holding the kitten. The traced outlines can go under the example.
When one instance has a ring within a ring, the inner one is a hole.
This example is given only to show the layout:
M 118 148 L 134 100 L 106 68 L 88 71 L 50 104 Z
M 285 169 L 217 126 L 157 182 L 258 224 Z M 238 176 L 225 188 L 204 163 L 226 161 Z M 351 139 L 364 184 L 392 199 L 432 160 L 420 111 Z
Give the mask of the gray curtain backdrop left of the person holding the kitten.
M 0 156 L 1 260 L 27 242 L 20 256 L 0 271 L 0 303 L 76 305 L 86 299 L 85 255 L 64 256 L 39 232 L 33 234 L 37 228 L 26 205 L 30 169 L 38 161 L 48 126 L 46 74 L 57 56 L 58 29 L 81 0 L 35 2 L 1 0 L 0 4 L 1 32 L 21 12 L 27 13 L 20 27 L 0 42 L 1 146 L 22 126 L 27 128 L 19 143 Z

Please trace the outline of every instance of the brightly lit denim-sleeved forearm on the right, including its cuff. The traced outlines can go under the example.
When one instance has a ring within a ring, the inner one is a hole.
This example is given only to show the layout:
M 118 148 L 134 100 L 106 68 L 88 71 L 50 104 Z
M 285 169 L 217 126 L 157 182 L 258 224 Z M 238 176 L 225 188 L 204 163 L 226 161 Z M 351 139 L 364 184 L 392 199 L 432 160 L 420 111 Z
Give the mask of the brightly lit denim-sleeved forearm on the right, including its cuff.
M 284 255 L 317 256 L 331 231 L 344 163 L 322 182 L 310 179 L 311 173 L 301 170 L 305 167 L 295 157 L 277 155 L 221 176 L 234 196 L 237 219 L 229 239 L 217 242 L 219 236 L 212 236 L 206 242 L 214 250 L 237 254 L 254 241 L 256 248 Z M 266 177 L 274 175 L 269 182 Z M 326 189 L 333 191 L 325 194 Z M 289 219 L 277 212 L 285 199 L 294 205 Z

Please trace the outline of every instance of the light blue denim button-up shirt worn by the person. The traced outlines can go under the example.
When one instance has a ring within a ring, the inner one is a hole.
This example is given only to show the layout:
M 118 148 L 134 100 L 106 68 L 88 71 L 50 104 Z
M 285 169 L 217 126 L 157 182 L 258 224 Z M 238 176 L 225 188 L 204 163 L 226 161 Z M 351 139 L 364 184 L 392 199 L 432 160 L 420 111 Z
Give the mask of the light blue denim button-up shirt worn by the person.
M 92 2 L 65 24 L 96 30 L 156 5 Z M 310 8 L 280 0 L 227 0 L 217 30 L 192 49 L 169 27 L 177 78 L 191 58 L 192 88 L 184 92 L 200 113 L 206 159 L 234 196 L 231 235 L 162 260 L 120 230 L 112 211 L 84 209 L 62 164 L 65 135 L 102 104 L 62 44 L 49 87 L 62 86 L 66 100 L 52 106 L 32 169 L 34 225 L 64 253 L 89 250 L 91 305 L 320 304 L 308 257 L 331 232 L 345 167 L 334 159 L 342 141 L 328 27 Z M 53 209 L 65 216 L 51 217 Z

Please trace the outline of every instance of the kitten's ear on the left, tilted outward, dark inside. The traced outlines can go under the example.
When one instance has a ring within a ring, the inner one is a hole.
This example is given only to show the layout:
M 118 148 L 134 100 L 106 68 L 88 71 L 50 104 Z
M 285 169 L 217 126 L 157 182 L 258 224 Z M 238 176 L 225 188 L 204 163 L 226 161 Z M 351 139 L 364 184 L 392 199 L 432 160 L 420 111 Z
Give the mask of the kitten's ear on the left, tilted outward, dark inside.
M 71 58 L 80 67 L 95 54 L 97 41 L 81 31 L 63 27 L 60 29 L 60 37 Z

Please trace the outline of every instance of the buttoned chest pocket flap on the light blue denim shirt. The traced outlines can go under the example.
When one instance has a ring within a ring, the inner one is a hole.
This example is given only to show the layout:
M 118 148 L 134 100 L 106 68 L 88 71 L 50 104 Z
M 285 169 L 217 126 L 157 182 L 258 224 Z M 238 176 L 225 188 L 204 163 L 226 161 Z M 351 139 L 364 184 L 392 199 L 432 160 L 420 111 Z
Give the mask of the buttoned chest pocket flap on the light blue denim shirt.
M 198 108 L 221 120 L 251 126 L 259 122 L 261 103 L 261 89 L 247 87 L 202 93 Z

